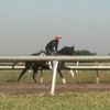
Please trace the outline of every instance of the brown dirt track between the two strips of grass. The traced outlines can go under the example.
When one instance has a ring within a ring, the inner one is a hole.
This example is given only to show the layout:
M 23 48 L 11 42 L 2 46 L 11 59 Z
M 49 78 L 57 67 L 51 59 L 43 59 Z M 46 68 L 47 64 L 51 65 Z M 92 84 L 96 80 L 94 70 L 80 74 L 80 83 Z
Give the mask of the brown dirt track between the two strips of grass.
M 87 92 L 109 91 L 110 84 L 56 84 L 55 94 L 59 92 Z M 3 94 L 50 94 L 51 84 L 0 84 L 0 92 Z

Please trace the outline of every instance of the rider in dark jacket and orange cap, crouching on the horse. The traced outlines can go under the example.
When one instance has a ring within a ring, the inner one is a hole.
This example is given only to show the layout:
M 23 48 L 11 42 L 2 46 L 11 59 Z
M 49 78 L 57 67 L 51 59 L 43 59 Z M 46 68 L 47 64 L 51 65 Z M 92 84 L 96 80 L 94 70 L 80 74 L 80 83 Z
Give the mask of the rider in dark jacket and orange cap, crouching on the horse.
M 47 43 L 45 46 L 47 55 L 56 55 L 57 54 L 57 48 L 58 48 L 58 42 L 61 41 L 62 36 L 56 35 L 54 40 Z M 48 62 L 50 68 L 52 68 L 51 62 Z

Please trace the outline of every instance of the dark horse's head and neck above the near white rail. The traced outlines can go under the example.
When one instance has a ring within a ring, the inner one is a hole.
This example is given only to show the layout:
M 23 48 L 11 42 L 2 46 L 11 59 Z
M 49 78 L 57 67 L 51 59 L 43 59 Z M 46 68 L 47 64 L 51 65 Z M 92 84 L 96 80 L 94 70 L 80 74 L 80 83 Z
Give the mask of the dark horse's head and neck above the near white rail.
M 61 51 L 58 51 L 61 55 L 75 55 L 75 47 L 74 46 L 65 46 Z

